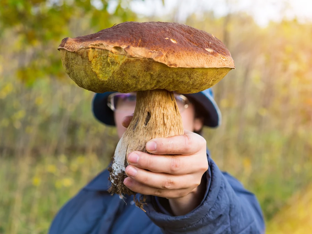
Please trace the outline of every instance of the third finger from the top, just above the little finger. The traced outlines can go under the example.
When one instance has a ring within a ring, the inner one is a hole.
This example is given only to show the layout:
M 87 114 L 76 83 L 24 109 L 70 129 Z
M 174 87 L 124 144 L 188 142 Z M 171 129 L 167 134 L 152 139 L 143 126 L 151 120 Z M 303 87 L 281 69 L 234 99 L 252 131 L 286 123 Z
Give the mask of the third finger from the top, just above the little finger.
M 200 183 L 200 181 L 196 181 L 193 174 L 177 176 L 167 173 L 155 173 L 132 165 L 126 167 L 125 173 L 139 183 L 159 189 L 195 188 Z

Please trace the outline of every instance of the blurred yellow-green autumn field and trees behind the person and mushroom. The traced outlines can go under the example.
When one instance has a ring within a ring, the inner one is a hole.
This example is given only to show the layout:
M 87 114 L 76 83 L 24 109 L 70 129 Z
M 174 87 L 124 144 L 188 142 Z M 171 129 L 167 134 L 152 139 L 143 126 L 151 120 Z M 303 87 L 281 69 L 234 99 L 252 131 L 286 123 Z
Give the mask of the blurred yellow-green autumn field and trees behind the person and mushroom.
M 66 75 L 64 37 L 124 21 L 181 22 L 225 43 L 236 70 L 214 87 L 218 166 L 256 194 L 267 233 L 312 229 L 312 4 L 308 0 L 0 1 L 0 233 L 46 233 L 118 142 Z

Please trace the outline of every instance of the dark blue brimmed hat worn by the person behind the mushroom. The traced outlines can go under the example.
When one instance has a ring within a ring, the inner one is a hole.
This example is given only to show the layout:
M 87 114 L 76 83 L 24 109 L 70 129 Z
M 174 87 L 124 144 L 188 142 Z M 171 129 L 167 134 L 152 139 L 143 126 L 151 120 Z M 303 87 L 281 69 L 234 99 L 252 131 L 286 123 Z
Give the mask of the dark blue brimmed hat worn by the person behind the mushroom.
M 107 98 L 114 92 L 97 93 L 92 101 L 92 111 L 96 119 L 106 125 L 115 126 L 114 112 L 107 105 Z M 197 111 L 202 111 L 204 117 L 204 125 L 208 127 L 218 127 L 221 124 L 221 112 L 215 100 L 213 99 L 212 89 L 193 93 L 183 94 L 192 102 L 196 102 L 202 108 Z

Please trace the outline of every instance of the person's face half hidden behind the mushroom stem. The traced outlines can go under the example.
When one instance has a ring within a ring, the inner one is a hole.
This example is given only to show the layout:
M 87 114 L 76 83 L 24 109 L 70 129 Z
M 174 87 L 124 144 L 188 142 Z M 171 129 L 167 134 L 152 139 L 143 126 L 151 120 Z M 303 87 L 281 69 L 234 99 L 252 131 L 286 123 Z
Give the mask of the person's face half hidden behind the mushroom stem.
M 199 131 L 202 128 L 202 119 L 195 118 L 195 108 L 192 103 L 184 108 L 184 104 L 176 98 L 177 104 L 181 113 L 183 128 L 188 131 Z M 120 97 L 116 101 L 116 110 L 114 112 L 115 124 L 119 139 L 124 134 L 126 128 L 122 126 L 121 121 L 127 115 L 132 115 L 135 108 L 135 98 L 131 95 Z M 181 111 L 182 110 L 182 111 Z

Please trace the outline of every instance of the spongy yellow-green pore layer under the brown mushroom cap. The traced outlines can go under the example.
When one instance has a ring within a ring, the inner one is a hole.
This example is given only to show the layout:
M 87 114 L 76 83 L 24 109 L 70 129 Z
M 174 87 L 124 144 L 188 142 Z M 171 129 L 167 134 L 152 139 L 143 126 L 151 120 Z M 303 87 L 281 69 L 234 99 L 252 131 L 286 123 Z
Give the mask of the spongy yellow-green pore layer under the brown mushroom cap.
M 88 48 L 60 49 L 66 73 L 82 88 L 95 93 L 166 89 L 197 93 L 218 83 L 232 68 L 168 67 L 152 59 L 128 57 Z

